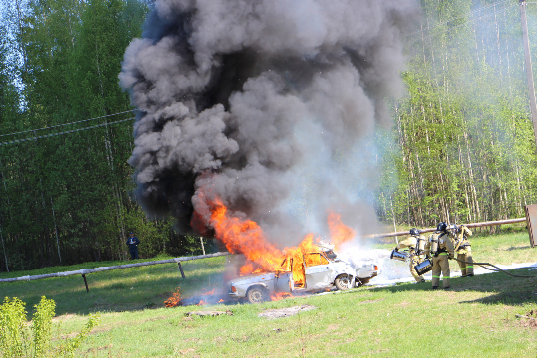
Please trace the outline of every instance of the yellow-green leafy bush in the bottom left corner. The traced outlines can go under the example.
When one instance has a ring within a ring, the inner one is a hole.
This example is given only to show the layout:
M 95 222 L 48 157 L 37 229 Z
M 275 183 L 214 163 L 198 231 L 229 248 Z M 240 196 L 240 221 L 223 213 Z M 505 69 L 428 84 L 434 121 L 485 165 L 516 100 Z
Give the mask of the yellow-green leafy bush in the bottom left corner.
M 39 304 L 34 305 L 36 311 L 31 323 L 26 321 L 25 306 L 17 297 L 6 297 L 0 306 L 0 357 L 72 357 L 88 333 L 99 323 L 99 316 L 90 315 L 88 323 L 75 337 L 53 339 L 52 318 L 56 303 L 42 296 Z

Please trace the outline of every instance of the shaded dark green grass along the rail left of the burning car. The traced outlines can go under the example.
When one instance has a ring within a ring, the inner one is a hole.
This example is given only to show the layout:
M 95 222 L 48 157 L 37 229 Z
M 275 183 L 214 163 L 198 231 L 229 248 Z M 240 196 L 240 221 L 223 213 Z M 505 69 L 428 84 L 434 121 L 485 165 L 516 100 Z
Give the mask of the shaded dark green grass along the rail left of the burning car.
M 151 260 L 165 258 L 158 257 Z M 182 279 L 177 264 L 92 273 L 86 275 L 89 293 L 86 293 L 84 281 L 80 275 L 29 282 L 0 283 L 0 297 L 19 297 L 27 303 L 28 308 L 33 308 L 41 296 L 47 296 L 56 301 L 56 313 L 59 315 L 138 310 L 148 303 L 163 307 L 165 299 L 171 296 L 176 287 L 181 287 L 183 292 L 191 294 L 205 293 L 210 290 L 209 284 L 211 289 L 214 288 L 220 282 L 216 279 L 224 273 L 225 261 L 226 257 L 217 257 L 183 262 L 186 281 Z M 0 275 L 0 279 L 122 264 L 125 264 L 125 261 L 86 262 L 86 264 L 75 266 L 4 273 Z

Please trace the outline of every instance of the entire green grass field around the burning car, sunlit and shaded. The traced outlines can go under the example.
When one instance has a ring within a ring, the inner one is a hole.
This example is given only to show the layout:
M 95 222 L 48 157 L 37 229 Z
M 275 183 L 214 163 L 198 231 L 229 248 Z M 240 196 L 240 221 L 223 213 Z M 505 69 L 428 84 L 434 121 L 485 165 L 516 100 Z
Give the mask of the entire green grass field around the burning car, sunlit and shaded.
M 537 249 L 529 248 L 524 232 L 475 237 L 472 244 L 479 261 L 537 261 Z M 80 276 L 2 283 L 0 291 L 1 296 L 23 299 L 28 311 L 42 295 L 54 299 L 56 319 L 66 331 L 81 327 L 87 313 L 100 312 L 101 324 L 76 354 L 82 357 L 297 357 L 304 347 L 308 357 L 537 356 L 535 326 L 514 316 L 536 308 L 537 279 L 514 279 L 503 273 L 452 279 L 451 291 L 433 291 L 427 282 L 259 305 L 163 308 L 176 287 L 187 297 L 221 286 L 226 259 L 185 262 L 186 281 L 177 265 L 166 264 L 86 275 L 89 293 Z M 121 262 L 92 262 L 0 278 L 117 264 Z M 512 272 L 537 275 L 527 268 Z M 154 306 L 147 309 L 150 303 Z M 257 316 L 266 309 L 302 304 L 317 308 L 273 320 Z M 189 311 L 226 309 L 234 315 L 185 316 Z

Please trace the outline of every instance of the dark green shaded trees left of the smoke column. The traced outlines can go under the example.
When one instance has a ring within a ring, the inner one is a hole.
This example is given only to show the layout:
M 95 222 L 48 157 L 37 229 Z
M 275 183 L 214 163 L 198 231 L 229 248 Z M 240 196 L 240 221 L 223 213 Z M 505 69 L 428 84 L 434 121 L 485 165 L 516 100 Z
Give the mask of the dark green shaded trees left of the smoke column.
M 118 74 L 150 3 L 137 0 L 21 0 L 2 8 L 0 134 L 24 132 L 134 109 Z M 129 231 L 141 257 L 198 253 L 171 218 L 151 220 L 133 197 L 134 112 L 0 142 L 0 271 L 127 259 Z M 124 122 L 108 125 L 120 120 Z M 5 250 L 4 250 L 5 247 Z

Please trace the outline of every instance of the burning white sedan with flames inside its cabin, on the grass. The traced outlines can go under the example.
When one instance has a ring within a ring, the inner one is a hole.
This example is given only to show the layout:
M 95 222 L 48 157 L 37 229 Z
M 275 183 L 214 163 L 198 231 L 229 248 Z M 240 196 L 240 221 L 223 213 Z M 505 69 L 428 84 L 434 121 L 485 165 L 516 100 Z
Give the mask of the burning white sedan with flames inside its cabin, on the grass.
M 285 263 L 282 267 L 285 267 Z M 379 274 L 379 267 L 375 264 L 355 267 L 323 251 L 304 254 L 302 264 L 305 278 L 302 287 L 296 287 L 291 261 L 288 265 L 290 271 L 259 272 L 231 280 L 229 296 L 246 297 L 250 303 L 259 303 L 278 293 L 315 293 L 333 287 L 338 290 L 360 287 Z

